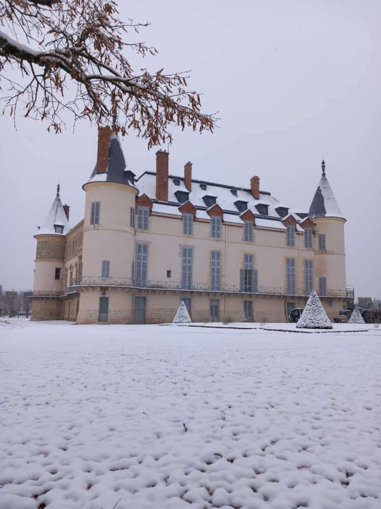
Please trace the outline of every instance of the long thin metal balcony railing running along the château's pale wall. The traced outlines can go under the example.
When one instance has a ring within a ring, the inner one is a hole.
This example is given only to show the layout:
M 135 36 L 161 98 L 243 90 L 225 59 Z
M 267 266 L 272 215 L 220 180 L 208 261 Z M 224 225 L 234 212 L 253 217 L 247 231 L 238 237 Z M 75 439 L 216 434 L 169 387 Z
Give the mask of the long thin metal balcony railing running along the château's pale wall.
M 284 295 L 290 297 L 308 296 L 303 290 L 295 289 L 290 293 L 284 287 L 266 287 L 249 285 L 210 285 L 205 282 L 181 282 L 181 281 L 160 281 L 153 279 L 135 279 L 131 277 L 101 277 L 82 276 L 73 279 L 72 286 L 68 287 L 64 294 L 73 293 L 81 287 L 131 287 L 147 290 L 172 290 L 184 292 L 209 292 L 209 293 L 247 293 L 259 295 Z M 321 297 L 353 298 L 353 290 L 328 290 Z

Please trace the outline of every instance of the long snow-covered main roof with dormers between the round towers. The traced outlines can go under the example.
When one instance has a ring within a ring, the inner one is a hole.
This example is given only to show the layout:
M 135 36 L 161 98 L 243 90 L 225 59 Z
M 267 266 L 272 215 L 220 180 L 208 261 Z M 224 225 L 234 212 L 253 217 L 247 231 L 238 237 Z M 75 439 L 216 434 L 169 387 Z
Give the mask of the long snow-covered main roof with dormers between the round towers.
M 175 181 L 178 182 L 178 185 L 175 183 Z M 206 189 L 202 189 L 201 185 L 203 187 L 206 186 Z M 285 207 L 291 211 L 290 207 L 286 207 L 283 204 L 280 204 L 280 202 L 276 200 L 276 198 L 272 196 L 271 193 L 266 191 L 260 191 L 259 200 L 256 200 L 252 196 L 250 189 L 236 186 L 227 186 L 225 184 L 216 184 L 201 180 L 192 180 L 192 190 L 189 192 L 184 184 L 184 178 L 175 175 L 170 175 L 168 179 L 168 202 L 166 203 L 157 203 L 156 174 L 154 172 L 143 173 L 135 181 L 135 186 L 139 189 L 139 195 L 146 194 L 153 201 L 152 212 L 163 214 L 174 214 L 181 216 L 181 212 L 178 210 L 178 207 L 181 205 L 181 203 L 178 201 L 175 194 L 177 191 L 182 191 L 188 195 L 189 202 L 191 202 L 197 209 L 196 217 L 200 219 L 210 220 L 210 217 L 206 212 L 208 207 L 205 205 L 203 200 L 204 196 L 216 197 L 216 204 L 219 205 L 221 209 L 223 209 L 224 221 L 226 222 L 242 224 L 242 219 L 239 217 L 242 214 L 242 211 L 238 210 L 235 205 L 235 202 L 238 201 L 247 203 L 247 209 L 251 210 L 256 215 L 256 224 L 258 226 L 264 226 L 268 228 L 279 228 L 281 230 L 285 229 L 284 225 L 281 223 L 283 218 L 276 211 L 277 207 Z M 233 194 L 231 189 L 233 189 L 236 194 Z M 268 216 L 259 214 L 258 210 L 256 209 L 256 205 L 259 204 L 268 206 Z M 300 221 L 300 218 L 295 213 L 294 215 L 297 220 Z M 298 227 L 297 230 L 302 231 L 300 227 Z

